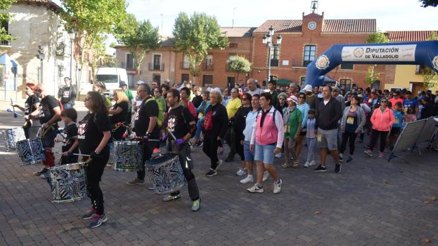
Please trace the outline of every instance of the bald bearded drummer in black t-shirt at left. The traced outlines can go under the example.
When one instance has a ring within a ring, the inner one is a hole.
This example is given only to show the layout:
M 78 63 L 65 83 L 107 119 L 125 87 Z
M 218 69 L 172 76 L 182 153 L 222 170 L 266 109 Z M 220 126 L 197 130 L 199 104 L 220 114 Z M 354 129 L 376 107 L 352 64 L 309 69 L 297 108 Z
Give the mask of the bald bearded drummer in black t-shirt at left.
M 55 166 L 55 156 L 53 156 L 52 148 L 55 146 L 55 137 L 57 133 L 57 122 L 61 118 L 61 109 L 56 98 L 46 94 L 44 91 L 44 86 L 38 84 L 35 89 L 35 94 L 41 99 L 40 107 L 38 107 L 39 114 L 35 115 L 31 113 L 29 119 L 40 120 L 42 124 L 42 146 L 45 149 L 46 161 L 42 161 L 44 167 L 40 172 L 34 173 L 40 176 L 41 174 L 47 173 L 49 167 Z

